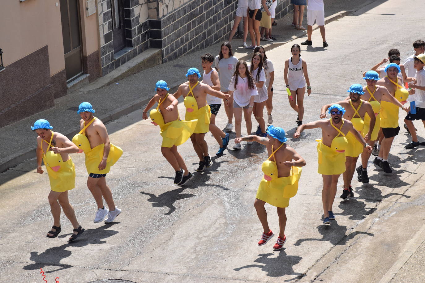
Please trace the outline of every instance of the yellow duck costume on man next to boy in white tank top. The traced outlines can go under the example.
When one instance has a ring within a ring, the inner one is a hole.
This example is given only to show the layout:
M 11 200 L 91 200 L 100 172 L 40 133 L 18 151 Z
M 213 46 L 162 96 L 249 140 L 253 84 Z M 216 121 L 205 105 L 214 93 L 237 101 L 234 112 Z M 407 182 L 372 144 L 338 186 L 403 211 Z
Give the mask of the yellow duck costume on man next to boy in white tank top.
M 210 130 L 210 118 L 211 118 L 211 109 L 210 105 L 205 105 L 198 109 L 198 104 L 196 103 L 196 98 L 193 95 L 193 89 L 199 84 L 199 81 L 193 87 L 190 87 L 187 96 L 184 98 L 184 106 L 186 107 L 186 115 L 184 120 L 198 120 L 196 123 L 194 134 L 204 134 Z M 192 96 L 189 96 L 189 95 Z

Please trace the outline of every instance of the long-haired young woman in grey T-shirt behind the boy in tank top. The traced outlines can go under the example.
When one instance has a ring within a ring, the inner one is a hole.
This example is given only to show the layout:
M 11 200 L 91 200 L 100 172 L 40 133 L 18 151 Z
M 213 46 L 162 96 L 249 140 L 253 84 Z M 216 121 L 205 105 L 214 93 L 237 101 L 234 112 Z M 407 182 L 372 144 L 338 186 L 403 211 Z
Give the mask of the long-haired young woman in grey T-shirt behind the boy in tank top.
M 220 81 L 220 91 L 224 94 L 229 93 L 229 84 L 232 79 L 233 74 L 236 70 L 236 64 L 238 63 L 238 58 L 233 56 L 232 45 L 230 42 L 223 42 L 220 47 L 220 54 L 215 56 L 215 70 L 218 71 L 218 80 Z M 230 131 L 233 129 L 233 107 L 232 99 L 229 100 L 229 106 L 227 101 L 224 101 L 224 110 L 227 115 L 227 125 L 225 129 Z

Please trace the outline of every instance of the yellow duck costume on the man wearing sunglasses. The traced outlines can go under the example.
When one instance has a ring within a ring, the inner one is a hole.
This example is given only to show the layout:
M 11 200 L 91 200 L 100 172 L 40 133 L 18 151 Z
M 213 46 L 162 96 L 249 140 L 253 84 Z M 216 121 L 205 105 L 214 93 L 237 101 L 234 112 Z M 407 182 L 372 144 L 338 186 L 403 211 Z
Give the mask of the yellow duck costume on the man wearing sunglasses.
M 334 104 L 335 105 L 335 104 Z M 329 109 L 334 109 L 332 105 Z M 341 109 L 344 109 L 340 105 L 338 105 Z M 345 112 L 345 109 L 344 109 Z M 346 171 L 346 154 L 345 151 L 348 147 L 348 141 L 345 137 L 345 134 L 341 132 L 341 129 L 344 125 L 344 120 L 342 120 L 342 125 L 338 129 L 334 124 L 332 123 L 332 118 L 329 119 L 329 123 L 331 123 L 331 126 L 334 127 L 338 131 L 338 134 L 334 139 L 332 140 L 331 147 L 326 146 L 324 143 L 322 143 L 322 139 L 316 140 L 319 142 L 317 144 L 317 163 L 318 168 L 317 172 L 322 175 L 339 175 Z

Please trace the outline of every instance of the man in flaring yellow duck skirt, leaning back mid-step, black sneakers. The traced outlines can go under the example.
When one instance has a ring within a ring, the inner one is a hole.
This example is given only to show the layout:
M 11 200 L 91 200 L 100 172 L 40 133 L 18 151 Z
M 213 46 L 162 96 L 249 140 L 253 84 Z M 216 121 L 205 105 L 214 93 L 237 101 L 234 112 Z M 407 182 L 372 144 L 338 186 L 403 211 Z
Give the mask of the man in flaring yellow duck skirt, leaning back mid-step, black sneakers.
M 173 95 L 168 93 L 167 82 L 157 81 L 156 95 L 149 101 L 143 110 L 143 119 L 147 119 L 147 110 L 158 103 L 156 109 L 150 110 L 150 119 L 155 126 L 161 129 L 162 144 L 161 152 L 165 159 L 176 171 L 174 184 L 182 186 L 193 179 L 193 174 L 187 170 L 181 154 L 177 151 L 177 146 L 186 142 L 195 130 L 198 120 L 180 120 L 178 115 L 178 101 Z

